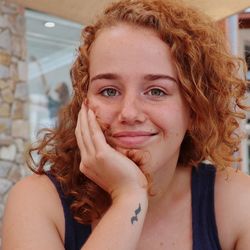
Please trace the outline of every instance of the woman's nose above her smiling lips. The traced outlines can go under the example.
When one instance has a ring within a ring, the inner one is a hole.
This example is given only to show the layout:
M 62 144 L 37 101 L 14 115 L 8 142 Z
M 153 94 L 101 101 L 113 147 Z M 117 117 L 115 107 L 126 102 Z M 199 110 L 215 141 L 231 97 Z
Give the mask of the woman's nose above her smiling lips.
M 118 120 L 123 124 L 134 125 L 143 123 L 146 115 L 143 112 L 143 103 L 137 96 L 128 96 L 123 99 L 120 105 Z

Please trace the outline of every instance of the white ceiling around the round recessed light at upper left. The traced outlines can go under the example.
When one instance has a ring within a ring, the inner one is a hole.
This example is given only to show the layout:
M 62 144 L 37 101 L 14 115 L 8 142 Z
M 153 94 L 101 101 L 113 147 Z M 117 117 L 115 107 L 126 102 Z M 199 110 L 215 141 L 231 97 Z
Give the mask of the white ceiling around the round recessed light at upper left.
M 72 63 L 82 25 L 32 10 L 25 11 L 29 79 Z M 44 23 L 53 21 L 54 28 Z

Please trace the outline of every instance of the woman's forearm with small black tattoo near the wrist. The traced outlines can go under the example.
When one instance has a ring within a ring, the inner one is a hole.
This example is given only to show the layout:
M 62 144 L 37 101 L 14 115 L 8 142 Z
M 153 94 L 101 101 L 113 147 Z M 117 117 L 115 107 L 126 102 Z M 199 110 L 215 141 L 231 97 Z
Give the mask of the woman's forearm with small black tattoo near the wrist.
M 146 192 L 117 198 L 99 221 L 82 250 L 134 250 L 148 209 Z

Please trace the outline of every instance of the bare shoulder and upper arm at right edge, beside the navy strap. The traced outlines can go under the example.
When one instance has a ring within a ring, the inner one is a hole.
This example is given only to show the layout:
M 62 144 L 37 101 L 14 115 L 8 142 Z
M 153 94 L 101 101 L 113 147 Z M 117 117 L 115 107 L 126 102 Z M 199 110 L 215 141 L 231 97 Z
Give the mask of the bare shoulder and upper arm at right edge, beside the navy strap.
M 223 249 L 250 249 L 250 176 L 228 168 L 217 171 L 215 211 Z

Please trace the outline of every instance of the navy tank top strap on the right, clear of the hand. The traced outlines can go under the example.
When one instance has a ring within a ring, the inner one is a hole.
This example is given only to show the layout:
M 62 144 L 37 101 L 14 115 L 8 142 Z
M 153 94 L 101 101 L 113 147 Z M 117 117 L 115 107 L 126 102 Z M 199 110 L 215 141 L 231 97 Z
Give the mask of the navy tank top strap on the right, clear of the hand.
M 214 209 L 215 177 L 216 168 L 211 164 L 192 169 L 193 250 L 221 249 Z

